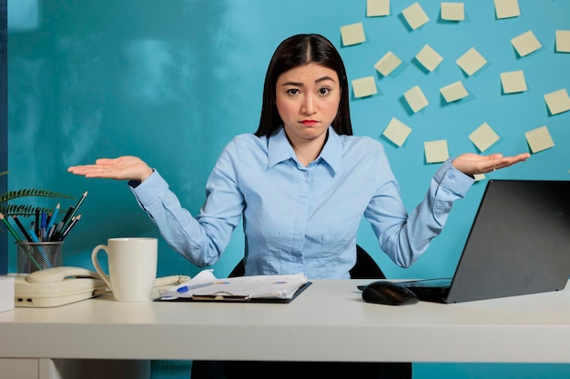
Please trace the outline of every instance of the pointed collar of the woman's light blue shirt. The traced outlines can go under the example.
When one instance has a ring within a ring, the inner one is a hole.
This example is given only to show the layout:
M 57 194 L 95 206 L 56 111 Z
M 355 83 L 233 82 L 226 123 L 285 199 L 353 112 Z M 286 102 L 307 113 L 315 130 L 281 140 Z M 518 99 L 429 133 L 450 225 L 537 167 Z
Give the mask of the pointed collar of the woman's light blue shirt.
M 285 130 L 281 127 L 275 134 L 271 135 L 268 141 L 269 147 L 269 165 L 273 167 L 280 162 L 288 159 L 295 159 L 295 152 L 285 135 Z M 332 171 L 338 173 L 341 169 L 342 163 L 342 140 L 341 136 L 337 135 L 332 126 L 329 126 L 329 138 L 322 148 L 321 155 L 317 158 L 324 161 L 327 165 L 331 166 Z

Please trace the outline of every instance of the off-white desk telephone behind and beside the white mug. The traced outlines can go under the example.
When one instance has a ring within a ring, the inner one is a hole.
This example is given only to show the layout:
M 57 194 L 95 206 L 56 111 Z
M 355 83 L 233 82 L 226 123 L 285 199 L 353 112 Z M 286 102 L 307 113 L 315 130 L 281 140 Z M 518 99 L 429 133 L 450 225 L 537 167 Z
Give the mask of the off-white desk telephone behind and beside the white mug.
M 157 278 L 155 287 L 182 284 L 186 275 Z M 83 267 L 63 266 L 15 276 L 15 306 L 51 307 L 110 294 L 99 274 Z

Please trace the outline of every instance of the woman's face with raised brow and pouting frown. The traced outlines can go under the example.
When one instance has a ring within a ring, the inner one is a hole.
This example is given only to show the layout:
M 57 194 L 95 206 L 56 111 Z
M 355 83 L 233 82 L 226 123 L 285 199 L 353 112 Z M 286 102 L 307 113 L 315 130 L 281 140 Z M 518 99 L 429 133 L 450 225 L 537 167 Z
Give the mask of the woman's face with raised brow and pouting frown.
M 275 104 L 293 144 L 324 141 L 340 102 L 339 76 L 322 65 L 301 65 L 277 79 Z

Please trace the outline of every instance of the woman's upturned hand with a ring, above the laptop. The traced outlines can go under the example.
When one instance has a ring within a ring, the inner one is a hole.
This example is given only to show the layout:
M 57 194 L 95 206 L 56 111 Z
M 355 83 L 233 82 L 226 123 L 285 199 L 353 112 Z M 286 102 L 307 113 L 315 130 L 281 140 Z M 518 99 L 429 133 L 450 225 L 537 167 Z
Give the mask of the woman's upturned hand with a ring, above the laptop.
M 509 167 L 530 158 L 530 154 L 523 153 L 513 156 L 502 154 L 476 155 L 465 153 L 453 159 L 453 166 L 466 175 L 491 173 L 500 168 Z

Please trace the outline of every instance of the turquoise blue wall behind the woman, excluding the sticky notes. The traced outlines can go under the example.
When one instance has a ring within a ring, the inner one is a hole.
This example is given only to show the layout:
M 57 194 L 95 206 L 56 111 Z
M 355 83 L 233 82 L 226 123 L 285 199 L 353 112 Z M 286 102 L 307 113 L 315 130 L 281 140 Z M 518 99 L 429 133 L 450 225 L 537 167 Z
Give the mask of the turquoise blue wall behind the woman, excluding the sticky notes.
M 380 252 L 370 226 L 362 224 L 359 243 L 389 277 L 451 275 L 486 179 L 570 179 L 570 112 L 550 115 L 543 98 L 570 86 L 570 55 L 555 52 L 555 30 L 570 29 L 570 2 L 519 0 L 520 16 L 498 20 L 493 0 L 466 0 L 465 20 L 447 22 L 440 18 L 440 2 L 420 0 L 430 21 L 412 30 L 402 10 L 414 2 L 392 1 L 390 15 L 367 17 L 365 0 L 10 0 L 8 185 L 76 196 L 88 192 L 81 224 L 66 241 L 64 264 L 91 267 L 91 249 L 109 237 L 158 236 L 125 183 L 86 180 L 67 174 L 66 167 L 100 156 L 139 155 L 196 213 L 223 146 L 233 135 L 257 128 L 263 78 L 275 47 L 289 35 L 320 33 L 340 49 L 350 80 L 374 76 L 378 94 L 352 97 L 354 131 L 385 143 L 410 210 L 438 166 L 425 163 L 425 141 L 446 139 L 451 155 L 477 152 L 468 135 L 486 122 L 501 139 L 484 153 L 514 155 L 530 152 L 525 132 L 548 127 L 555 146 L 477 182 L 455 205 L 443 234 L 411 268 L 392 264 Z M 359 22 L 366 41 L 342 46 L 341 26 Z M 510 41 L 528 30 L 542 47 L 519 57 Z M 443 56 L 431 73 L 413 59 L 425 44 Z M 455 60 L 471 47 L 488 63 L 468 76 Z M 388 51 L 403 62 L 383 77 L 373 65 Z M 505 95 L 499 75 L 514 70 L 524 70 L 528 90 Z M 470 95 L 445 104 L 439 89 L 458 80 Z M 414 85 L 421 86 L 430 102 L 416 114 L 402 101 Z M 412 127 L 402 146 L 382 136 L 392 117 Z M 13 271 L 15 248 L 8 247 Z M 242 251 L 238 229 L 214 267 L 216 274 L 228 274 Z M 159 275 L 197 272 L 160 243 Z M 172 367 L 178 365 L 157 363 L 155 368 L 166 377 L 168 370 L 176 371 Z M 181 372 L 186 370 L 182 367 Z M 489 367 L 484 376 L 503 377 L 514 370 L 512 365 L 460 367 L 418 364 L 416 377 L 433 376 L 434 369 L 447 377 L 475 377 L 473 373 Z M 540 370 L 534 377 L 569 373 L 568 365 L 533 365 L 524 372 L 534 369 Z

